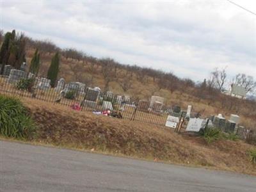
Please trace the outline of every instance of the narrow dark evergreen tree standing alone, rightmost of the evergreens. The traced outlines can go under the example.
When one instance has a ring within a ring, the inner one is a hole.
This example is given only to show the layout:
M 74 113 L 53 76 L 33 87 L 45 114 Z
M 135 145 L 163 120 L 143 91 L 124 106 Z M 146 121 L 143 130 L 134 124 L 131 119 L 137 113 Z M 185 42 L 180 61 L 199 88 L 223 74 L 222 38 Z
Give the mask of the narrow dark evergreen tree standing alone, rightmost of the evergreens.
M 56 52 L 56 54 L 52 58 L 51 65 L 47 72 L 47 78 L 51 79 L 52 87 L 54 87 L 56 83 L 58 72 L 59 72 L 59 66 L 60 66 L 60 56 L 59 56 L 59 52 Z

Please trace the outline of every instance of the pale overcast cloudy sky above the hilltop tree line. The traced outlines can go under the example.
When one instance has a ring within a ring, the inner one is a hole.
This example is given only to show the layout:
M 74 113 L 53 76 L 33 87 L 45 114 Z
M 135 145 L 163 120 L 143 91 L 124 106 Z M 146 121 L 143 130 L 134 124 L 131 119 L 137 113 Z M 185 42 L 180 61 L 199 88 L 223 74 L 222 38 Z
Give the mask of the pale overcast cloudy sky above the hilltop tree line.
M 234 3 L 256 12 L 256 1 Z M 256 15 L 228 1 L 3 1 L 1 29 L 202 81 L 256 79 Z

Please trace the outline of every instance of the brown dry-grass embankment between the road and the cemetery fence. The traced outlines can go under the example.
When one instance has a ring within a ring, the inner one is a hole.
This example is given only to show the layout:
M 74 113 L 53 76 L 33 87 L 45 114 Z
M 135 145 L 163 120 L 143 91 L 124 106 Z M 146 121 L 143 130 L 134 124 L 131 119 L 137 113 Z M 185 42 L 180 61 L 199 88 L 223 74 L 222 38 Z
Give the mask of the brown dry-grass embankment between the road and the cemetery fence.
M 22 99 L 38 124 L 37 141 L 168 163 L 207 166 L 256 175 L 243 141 L 179 135 L 170 129 L 74 111 L 58 104 Z

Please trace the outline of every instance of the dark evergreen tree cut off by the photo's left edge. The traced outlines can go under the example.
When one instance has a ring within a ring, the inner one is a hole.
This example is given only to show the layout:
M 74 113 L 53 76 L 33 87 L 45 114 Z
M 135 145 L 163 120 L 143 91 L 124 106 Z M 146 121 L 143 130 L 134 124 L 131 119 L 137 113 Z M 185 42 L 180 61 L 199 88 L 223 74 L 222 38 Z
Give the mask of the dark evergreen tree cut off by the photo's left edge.
M 4 72 L 4 65 L 8 62 L 9 55 L 10 55 L 10 42 L 12 40 L 12 33 L 7 32 L 4 35 L 4 41 L 0 49 L 0 64 L 2 64 L 0 74 Z

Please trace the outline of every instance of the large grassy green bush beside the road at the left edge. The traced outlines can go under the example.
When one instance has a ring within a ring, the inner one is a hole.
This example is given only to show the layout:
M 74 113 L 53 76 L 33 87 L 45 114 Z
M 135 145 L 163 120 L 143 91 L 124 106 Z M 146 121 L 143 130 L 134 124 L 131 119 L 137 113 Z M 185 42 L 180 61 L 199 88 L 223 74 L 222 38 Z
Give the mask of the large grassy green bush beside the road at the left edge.
M 19 99 L 0 95 L 0 134 L 13 138 L 30 138 L 35 124 Z

